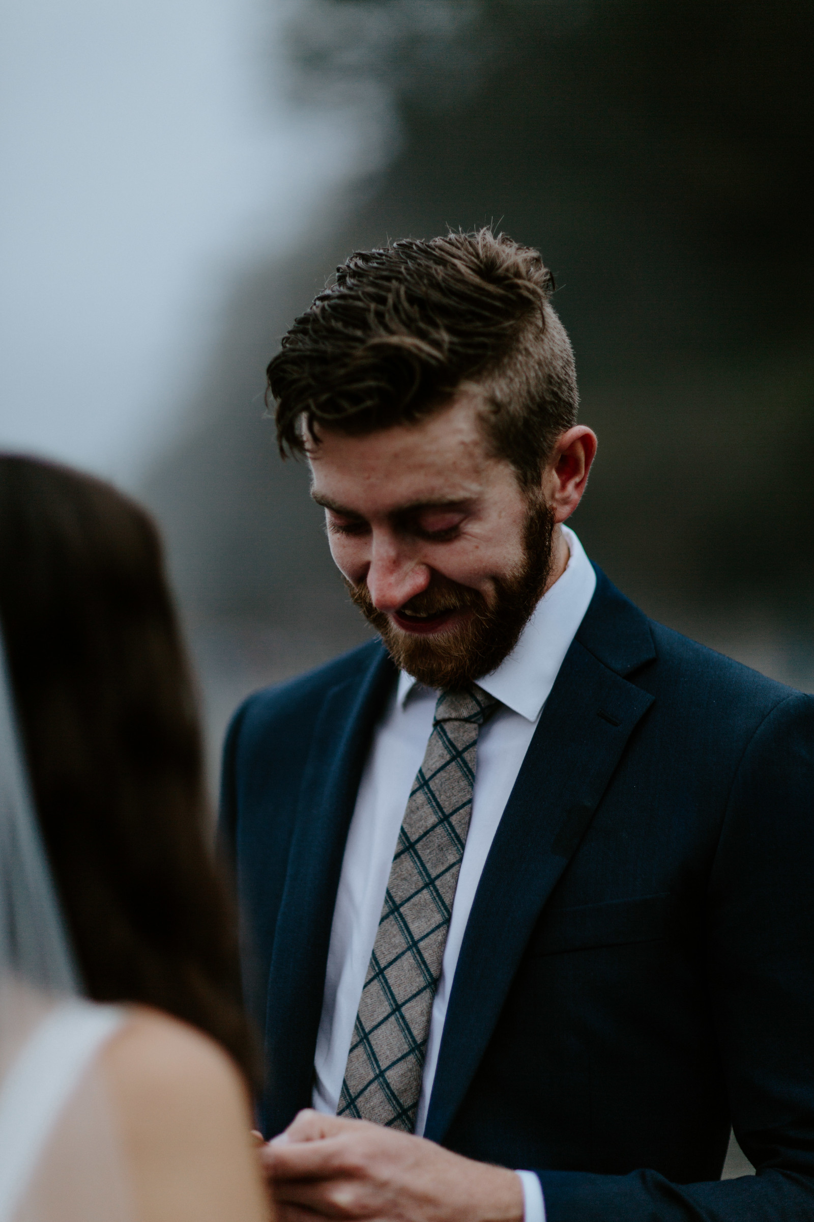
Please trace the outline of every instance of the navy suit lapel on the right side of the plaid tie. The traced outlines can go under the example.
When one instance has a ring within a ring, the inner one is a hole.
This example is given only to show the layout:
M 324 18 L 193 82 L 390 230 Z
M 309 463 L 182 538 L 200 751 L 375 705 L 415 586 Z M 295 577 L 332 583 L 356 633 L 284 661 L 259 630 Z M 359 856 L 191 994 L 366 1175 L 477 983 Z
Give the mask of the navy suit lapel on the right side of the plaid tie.
M 653 657 L 646 617 L 599 573 L 475 896 L 425 1127 L 434 1141 L 443 1140 L 469 1089 L 541 909 L 653 701 L 622 673 Z

